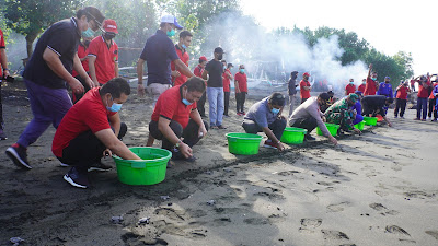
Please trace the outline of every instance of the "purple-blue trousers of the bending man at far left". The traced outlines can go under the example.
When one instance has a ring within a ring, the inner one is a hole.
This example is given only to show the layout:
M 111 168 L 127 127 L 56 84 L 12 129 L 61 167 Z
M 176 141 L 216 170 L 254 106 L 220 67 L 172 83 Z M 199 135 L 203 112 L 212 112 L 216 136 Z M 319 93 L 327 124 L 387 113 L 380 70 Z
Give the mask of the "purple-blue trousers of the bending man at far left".
M 34 118 L 21 133 L 18 143 L 27 148 L 46 131 L 50 124 L 58 128 L 73 105 L 67 89 L 49 89 L 24 80 Z

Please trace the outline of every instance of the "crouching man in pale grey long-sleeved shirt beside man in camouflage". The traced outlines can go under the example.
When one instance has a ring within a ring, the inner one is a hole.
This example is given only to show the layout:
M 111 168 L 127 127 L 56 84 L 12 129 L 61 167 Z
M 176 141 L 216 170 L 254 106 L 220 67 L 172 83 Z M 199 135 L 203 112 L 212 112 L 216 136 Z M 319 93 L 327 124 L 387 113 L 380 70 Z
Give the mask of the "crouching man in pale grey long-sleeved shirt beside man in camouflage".
M 304 136 L 306 140 L 314 140 L 310 133 L 320 127 L 322 133 L 330 139 L 333 144 L 337 144 L 337 140 L 330 134 L 327 127 L 324 121 L 324 114 L 321 112 L 321 107 L 327 105 L 330 95 L 327 93 L 321 93 L 318 97 L 312 96 L 303 104 L 301 104 L 289 118 L 289 126 L 303 128 L 308 130 Z

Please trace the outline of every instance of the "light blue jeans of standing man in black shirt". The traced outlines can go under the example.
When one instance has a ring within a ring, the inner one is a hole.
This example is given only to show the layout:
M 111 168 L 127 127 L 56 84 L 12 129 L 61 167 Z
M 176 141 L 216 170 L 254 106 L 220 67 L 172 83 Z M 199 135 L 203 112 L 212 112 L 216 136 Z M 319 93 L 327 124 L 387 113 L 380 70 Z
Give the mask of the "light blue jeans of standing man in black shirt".
M 221 126 L 223 118 L 223 87 L 207 87 L 207 97 L 210 105 L 210 127 Z

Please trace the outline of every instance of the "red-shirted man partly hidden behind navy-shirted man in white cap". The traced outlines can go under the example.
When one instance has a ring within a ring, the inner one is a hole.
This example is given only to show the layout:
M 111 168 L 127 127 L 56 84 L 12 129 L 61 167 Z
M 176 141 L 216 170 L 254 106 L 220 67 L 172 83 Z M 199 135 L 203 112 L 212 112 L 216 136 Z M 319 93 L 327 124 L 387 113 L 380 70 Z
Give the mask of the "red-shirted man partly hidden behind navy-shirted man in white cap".
M 183 31 L 180 33 L 180 42 L 175 45 L 176 54 L 180 57 L 180 60 L 183 61 L 185 66 L 188 67 L 188 60 L 191 59 L 187 52 L 187 48 L 192 44 L 193 35 L 188 31 Z M 182 85 L 187 81 L 187 77 L 181 74 L 182 71 L 176 69 L 175 62 L 171 62 L 171 70 L 172 70 L 172 81 L 173 86 Z

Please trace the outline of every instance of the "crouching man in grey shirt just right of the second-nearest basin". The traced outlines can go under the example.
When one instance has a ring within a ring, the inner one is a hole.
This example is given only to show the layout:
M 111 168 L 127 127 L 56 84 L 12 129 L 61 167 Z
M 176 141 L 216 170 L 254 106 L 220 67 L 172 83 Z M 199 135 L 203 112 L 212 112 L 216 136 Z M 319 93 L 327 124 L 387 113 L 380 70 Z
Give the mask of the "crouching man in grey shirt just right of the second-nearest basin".
M 280 139 L 286 128 L 286 118 L 281 116 L 285 106 L 285 96 L 275 92 L 270 96 L 253 104 L 243 118 L 242 127 L 246 133 L 265 132 L 268 140 L 264 147 L 285 150 Z

